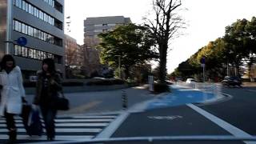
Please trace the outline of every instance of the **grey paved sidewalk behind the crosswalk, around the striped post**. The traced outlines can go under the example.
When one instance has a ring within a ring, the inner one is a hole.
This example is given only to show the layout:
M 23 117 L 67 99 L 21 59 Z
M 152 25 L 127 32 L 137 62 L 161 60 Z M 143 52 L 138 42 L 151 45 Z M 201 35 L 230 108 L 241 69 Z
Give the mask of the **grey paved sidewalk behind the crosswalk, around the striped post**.
M 65 93 L 70 100 L 70 110 L 59 111 L 58 114 L 92 114 L 110 113 L 122 110 L 122 90 L 125 90 L 128 98 L 128 108 L 155 98 L 145 86 L 136 86 L 120 90 Z M 32 102 L 33 94 L 26 95 L 28 102 Z

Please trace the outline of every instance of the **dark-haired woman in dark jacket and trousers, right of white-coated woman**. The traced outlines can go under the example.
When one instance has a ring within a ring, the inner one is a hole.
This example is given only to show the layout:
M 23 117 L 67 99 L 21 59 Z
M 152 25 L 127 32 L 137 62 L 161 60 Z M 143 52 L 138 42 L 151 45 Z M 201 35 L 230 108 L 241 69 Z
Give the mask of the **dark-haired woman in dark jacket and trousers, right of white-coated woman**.
M 55 69 L 54 60 L 46 58 L 42 61 L 42 70 L 38 71 L 38 81 L 34 105 L 39 106 L 46 126 L 47 140 L 53 141 L 55 137 L 54 118 L 59 91 L 62 90 L 61 78 Z

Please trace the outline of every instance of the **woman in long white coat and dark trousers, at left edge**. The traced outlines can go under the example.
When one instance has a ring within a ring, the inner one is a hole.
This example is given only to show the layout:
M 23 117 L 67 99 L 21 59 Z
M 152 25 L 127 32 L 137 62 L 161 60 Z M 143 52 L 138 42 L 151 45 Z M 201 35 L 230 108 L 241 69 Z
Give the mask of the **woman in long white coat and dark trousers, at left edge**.
M 9 130 L 8 143 L 13 143 L 17 139 L 14 115 L 22 113 L 22 102 L 26 102 L 26 100 L 22 83 L 22 72 L 20 68 L 15 65 L 14 58 L 10 54 L 6 54 L 2 58 L 0 85 L 0 115 L 6 118 L 6 126 Z

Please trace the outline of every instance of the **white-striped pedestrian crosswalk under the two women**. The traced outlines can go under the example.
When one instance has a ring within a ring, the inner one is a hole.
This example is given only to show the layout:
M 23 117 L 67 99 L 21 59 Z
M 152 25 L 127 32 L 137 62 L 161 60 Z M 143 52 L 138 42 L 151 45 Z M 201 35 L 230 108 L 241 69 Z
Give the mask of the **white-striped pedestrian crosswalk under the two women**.
M 117 117 L 118 114 L 59 116 L 55 119 L 55 140 L 85 140 L 94 138 Z M 30 137 L 26 134 L 26 130 L 23 127 L 22 118 L 15 117 L 15 122 L 18 128 L 18 141 L 42 142 L 46 140 L 45 130 L 41 137 Z M 0 118 L 0 143 L 8 139 L 7 134 L 6 120 Z

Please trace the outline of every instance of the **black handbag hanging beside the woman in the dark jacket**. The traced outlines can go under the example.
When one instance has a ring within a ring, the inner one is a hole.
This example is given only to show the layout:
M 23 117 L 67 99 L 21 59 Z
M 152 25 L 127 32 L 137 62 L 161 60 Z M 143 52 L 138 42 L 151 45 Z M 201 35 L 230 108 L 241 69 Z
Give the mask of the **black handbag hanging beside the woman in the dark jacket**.
M 57 101 L 55 102 L 56 110 L 70 110 L 70 102 L 65 98 L 63 91 L 58 92 Z

